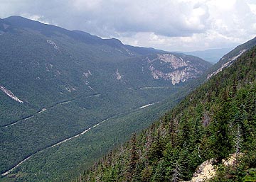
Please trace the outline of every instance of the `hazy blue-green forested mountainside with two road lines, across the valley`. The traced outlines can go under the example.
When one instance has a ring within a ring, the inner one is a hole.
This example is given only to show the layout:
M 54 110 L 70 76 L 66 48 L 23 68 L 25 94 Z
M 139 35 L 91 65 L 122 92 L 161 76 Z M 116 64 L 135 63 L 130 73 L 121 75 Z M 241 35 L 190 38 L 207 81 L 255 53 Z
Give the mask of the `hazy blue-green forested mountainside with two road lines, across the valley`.
M 149 126 L 210 67 L 19 16 L 0 20 L 0 45 L 0 181 L 67 180 Z

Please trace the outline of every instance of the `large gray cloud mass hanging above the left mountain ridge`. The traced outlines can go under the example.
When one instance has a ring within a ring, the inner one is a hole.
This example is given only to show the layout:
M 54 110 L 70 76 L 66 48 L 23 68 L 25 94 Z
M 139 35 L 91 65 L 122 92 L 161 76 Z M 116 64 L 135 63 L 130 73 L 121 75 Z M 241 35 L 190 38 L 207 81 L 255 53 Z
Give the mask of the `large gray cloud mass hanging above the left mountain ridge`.
M 201 4 L 178 1 L 9 1 L 9 12 L 38 15 L 44 21 L 69 29 L 90 30 L 109 36 L 127 32 L 154 32 L 157 35 L 185 36 L 206 30 L 208 9 Z M 23 3 L 21 3 L 23 2 Z M 4 10 L 2 10 L 4 11 Z M 197 11 L 201 11 L 198 12 Z M 11 15 L 11 14 L 10 14 Z

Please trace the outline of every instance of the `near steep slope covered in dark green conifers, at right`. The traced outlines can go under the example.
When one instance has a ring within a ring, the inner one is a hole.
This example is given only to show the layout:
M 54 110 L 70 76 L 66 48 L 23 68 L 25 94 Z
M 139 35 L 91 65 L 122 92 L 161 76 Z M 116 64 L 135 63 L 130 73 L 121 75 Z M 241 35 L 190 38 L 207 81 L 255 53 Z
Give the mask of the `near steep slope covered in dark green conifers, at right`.
M 77 181 L 189 181 L 211 158 L 218 166 L 212 181 L 255 181 L 255 101 L 253 47 Z M 223 166 L 222 159 L 233 153 L 238 163 Z

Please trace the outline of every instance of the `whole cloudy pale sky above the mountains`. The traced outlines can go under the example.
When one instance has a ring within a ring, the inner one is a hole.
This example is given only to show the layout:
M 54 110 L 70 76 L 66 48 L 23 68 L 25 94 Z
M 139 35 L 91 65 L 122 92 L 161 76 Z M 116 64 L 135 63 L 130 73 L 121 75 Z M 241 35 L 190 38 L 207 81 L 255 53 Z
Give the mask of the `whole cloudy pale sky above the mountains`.
M 23 16 L 168 51 L 235 47 L 256 36 L 256 0 L 0 0 Z

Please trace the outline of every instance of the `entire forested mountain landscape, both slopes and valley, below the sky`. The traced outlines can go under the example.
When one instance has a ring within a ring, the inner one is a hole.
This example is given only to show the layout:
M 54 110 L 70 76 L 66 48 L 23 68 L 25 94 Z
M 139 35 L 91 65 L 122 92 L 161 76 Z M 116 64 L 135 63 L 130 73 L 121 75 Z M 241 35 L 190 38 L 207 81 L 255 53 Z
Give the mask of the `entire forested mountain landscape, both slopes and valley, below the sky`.
M 255 168 L 256 39 L 212 66 L 11 16 L 0 44 L 0 181 L 190 180 L 231 153 L 239 179 Z

